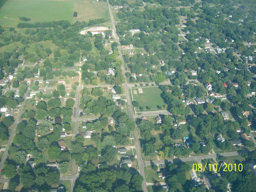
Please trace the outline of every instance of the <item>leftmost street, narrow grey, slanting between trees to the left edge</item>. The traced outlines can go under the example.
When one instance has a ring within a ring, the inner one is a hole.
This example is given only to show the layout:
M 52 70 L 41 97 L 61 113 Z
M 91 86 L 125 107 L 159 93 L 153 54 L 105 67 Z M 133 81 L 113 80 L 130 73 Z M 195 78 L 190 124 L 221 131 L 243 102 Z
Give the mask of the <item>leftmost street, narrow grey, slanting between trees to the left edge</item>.
M 18 112 L 18 115 L 14 121 L 14 124 L 13 124 L 13 128 L 12 128 L 12 133 L 10 134 L 10 137 L 9 137 L 9 140 L 8 140 L 8 143 L 6 145 L 6 148 L 5 148 L 5 151 L 4 151 L 4 155 L 1 159 L 1 163 L 0 163 L 0 170 L 3 169 L 4 167 L 4 161 L 6 160 L 7 158 L 7 155 L 8 155 L 8 149 L 9 149 L 9 146 L 12 144 L 12 140 L 13 140 L 13 137 L 14 135 L 16 134 L 16 128 L 17 128 L 17 125 L 19 124 L 20 122 L 20 116 L 21 116 L 21 113 L 23 111 L 23 107 L 25 105 L 25 101 L 26 101 L 26 98 L 27 98 L 27 95 L 28 95 L 28 91 L 30 90 L 30 88 L 28 88 L 27 92 L 25 93 L 25 96 L 24 96 L 24 101 L 22 102 L 21 106 L 20 106 L 20 111 Z

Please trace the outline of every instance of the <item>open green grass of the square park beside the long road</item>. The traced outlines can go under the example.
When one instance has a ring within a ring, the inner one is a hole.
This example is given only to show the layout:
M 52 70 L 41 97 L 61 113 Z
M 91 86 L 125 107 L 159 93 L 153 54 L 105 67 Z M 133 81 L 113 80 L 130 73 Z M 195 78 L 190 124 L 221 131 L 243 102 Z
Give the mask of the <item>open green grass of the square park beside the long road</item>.
M 134 90 L 137 91 L 137 94 L 134 94 Z M 142 88 L 143 93 L 139 93 L 139 88 L 131 88 L 131 91 L 133 100 L 138 101 L 145 111 L 146 106 L 157 111 L 157 106 L 163 107 L 165 105 L 164 100 L 160 96 L 161 90 L 158 87 L 144 87 Z M 136 108 L 136 111 L 140 112 L 139 108 Z

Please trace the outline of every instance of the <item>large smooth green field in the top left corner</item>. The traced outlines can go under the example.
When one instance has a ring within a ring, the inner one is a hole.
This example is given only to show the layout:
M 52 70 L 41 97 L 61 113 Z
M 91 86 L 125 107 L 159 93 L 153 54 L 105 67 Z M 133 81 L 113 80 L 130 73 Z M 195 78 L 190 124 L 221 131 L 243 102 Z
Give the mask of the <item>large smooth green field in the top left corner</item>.
M 73 1 L 69 0 L 8 0 L 0 12 L 2 27 L 16 27 L 19 17 L 30 18 L 27 22 L 73 21 Z

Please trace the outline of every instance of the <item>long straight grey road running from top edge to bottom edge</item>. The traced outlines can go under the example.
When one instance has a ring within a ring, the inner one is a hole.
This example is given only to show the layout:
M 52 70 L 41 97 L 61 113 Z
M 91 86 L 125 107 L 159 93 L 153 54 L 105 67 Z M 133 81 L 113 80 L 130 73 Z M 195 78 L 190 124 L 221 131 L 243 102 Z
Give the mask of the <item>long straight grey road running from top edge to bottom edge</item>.
M 119 58 L 122 61 L 122 72 L 123 72 L 123 75 L 124 75 L 124 73 L 125 73 L 125 71 L 124 71 L 124 60 L 122 58 L 121 48 L 120 48 L 120 45 L 119 45 L 118 36 L 116 34 L 115 21 L 114 21 L 114 18 L 113 18 L 113 14 L 112 14 L 109 2 L 108 2 L 108 10 L 109 10 L 109 14 L 110 14 L 110 19 L 111 19 L 113 31 L 114 31 L 114 36 L 115 36 L 116 42 L 118 43 Z M 129 94 L 129 88 L 128 88 L 128 83 L 127 83 L 127 79 L 126 78 L 125 78 L 125 83 L 124 83 L 124 89 L 125 89 L 125 94 L 126 94 L 126 99 L 127 99 L 128 111 L 129 111 L 129 114 L 130 114 L 130 118 L 131 118 L 131 120 L 134 120 L 133 111 L 132 111 L 132 102 L 131 102 L 131 98 L 130 98 L 130 94 Z M 133 131 L 133 137 L 134 137 L 135 149 L 136 149 L 136 152 L 137 152 L 137 160 L 138 160 L 138 166 L 139 166 L 139 173 L 143 177 L 142 190 L 144 192 L 147 192 L 148 188 L 147 188 L 146 177 L 145 177 L 145 173 L 144 173 L 144 166 L 145 166 L 145 164 L 144 164 L 144 162 L 142 160 L 142 157 L 141 157 L 140 143 L 139 143 L 139 140 L 138 140 L 138 137 L 137 137 L 137 133 L 136 133 L 135 130 Z

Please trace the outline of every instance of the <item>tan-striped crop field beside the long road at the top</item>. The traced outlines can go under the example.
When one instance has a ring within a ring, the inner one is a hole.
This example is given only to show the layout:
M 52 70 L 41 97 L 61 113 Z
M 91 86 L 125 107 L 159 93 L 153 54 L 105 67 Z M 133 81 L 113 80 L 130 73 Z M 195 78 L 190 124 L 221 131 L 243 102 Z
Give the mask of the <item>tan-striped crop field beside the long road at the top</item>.
M 90 19 L 110 19 L 107 2 L 97 2 L 96 0 L 74 0 L 74 12 L 77 17 L 73 17 L 73 23 L 76 21 L 89 21 Z

